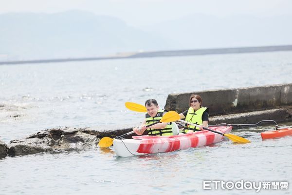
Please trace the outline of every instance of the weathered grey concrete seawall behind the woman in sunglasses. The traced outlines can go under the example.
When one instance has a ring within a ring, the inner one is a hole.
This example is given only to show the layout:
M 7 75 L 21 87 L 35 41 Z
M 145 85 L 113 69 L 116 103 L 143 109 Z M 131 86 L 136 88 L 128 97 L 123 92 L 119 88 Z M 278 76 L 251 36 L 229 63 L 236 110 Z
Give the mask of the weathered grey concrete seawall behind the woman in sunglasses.
M 216 118 L 213 116 L 220 115 L 221 118 L 225 116 L 227 121 L 234 123 L 228 118 L 236 113 L 253 116 L 256 120 L 273 119 L 273 117 L 279 122 L 292 120 L 292 83 L 170 94 L 164 108 L 181 113 L 189 108 L 188 102 L 192 94 L 200 95 L 203 99 L 203 106 L 209 108 L 210 121 L 219 122 L 217 119 L 213 120 Z M 269 112 L 265 112 L 268 110 Z M 257 114 L 253 112 L 257 112 Z M 269 118 L 264 118 L 264 116 L 267 117 L 267 113 L 270 113 Z M 251 122 L 254 119 L 243 119 L 242 122 L 244 121 Z

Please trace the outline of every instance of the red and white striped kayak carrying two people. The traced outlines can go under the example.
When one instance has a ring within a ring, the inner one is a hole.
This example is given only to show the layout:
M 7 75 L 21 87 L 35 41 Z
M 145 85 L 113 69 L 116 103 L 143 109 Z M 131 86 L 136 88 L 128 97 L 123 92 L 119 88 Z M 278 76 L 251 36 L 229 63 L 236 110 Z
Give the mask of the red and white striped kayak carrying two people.
M 229 134 L 232 127 L 209 127 L 212 130 Z M 172 152 L 217 143 L 223 136 L 203 130 L 176 136 L 133 136 L 133 139 L 114 139 L 113 147 L 117 156 L 135 156 Z

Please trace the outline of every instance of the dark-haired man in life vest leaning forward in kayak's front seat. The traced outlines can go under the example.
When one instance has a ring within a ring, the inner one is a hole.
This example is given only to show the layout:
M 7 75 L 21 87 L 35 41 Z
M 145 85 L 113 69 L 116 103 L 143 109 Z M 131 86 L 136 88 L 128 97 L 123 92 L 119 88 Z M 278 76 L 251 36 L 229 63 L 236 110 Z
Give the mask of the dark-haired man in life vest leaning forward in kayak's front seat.
M 140 126 L 141 130 L 139 130 L 136 127 L 133 129 L 133 131 L 139 136 L 142 135 L 144 131 L 147 129 L 146 125 L 159 121 L 167 112 L 166 110 L 159 109 L 158 103 L 155 99 L 146 100 L 145 106 L 147 109 L 147 114 L 145 120 L 142 122 L 142 125 Z M 151 126 L 151 128 L 148 128 L 147 130 L 149 136 L 172 136 L 171 123 L 166 122 L 158 123 Z

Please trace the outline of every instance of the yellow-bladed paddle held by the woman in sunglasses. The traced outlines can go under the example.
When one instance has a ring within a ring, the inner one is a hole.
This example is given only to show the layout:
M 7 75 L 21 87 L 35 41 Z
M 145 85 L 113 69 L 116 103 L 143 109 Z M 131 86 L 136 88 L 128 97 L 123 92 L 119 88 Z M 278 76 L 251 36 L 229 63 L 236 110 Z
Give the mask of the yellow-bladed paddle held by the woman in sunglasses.
M 136 111 L 136 112 L 146 112 L 146 107 L 143 106 L 143 105 L 140 105 L 140 104 L 137 104 L 137 103 L 133 103 L 133 102 L 126 102 L 125 105 L 129 110 Z M 194 124 L 194 123 L 190 123 L 190 122 L 187 122 L 187 121 L 184 121 L 184 120 L 181 120 L 181 119 L 178 119 L 178 120 L 183 122 L 183 123 L 187 123 L 187 124 L 190 124 L 190 125 L 194 125 L 194 126 L 200 127 L 199 125 Z M 245 139 L 243 137 L 239 137 L 239 136 L 236 136 L 236 135 L 223 134 L 221 132 L 214 131 L 214 130 L 206 128 L 206 127 L 203 127 L 203 129 L 211 131 L 213 133 L 221 134 L 222 136 L 228 137 L 229 139 L 231 139 L 234 142 L 238 142 L 238 143 L 250 143 L 251 142 L 248 139 Z

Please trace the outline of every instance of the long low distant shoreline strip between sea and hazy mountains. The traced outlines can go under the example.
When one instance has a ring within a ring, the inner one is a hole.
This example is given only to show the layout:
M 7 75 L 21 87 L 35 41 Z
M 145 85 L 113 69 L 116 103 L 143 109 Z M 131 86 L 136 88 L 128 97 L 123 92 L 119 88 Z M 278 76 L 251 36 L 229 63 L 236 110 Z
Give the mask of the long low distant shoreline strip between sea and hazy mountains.
M 292 45 L 279 46 L 259 46 L 259 47 L 234 47 L 234 48 L 218 48 L 218 49 L 194 49 L 194 50 L 172 50 L 172 51 L 156 51 L 141 52 L 108 57 L 92 57 L 92 58 L 66 58 L 66 59 L 38 59 L 38 60 L 21 60 L 21 61 L 0 61 L 0 65 L 8 64 L 29 64 L 29 63 L 54 63 L 69 61 L 92 61 L 104 59 L 131 59 L 131 58 L 155 58 L 155 57 L 173 57 L 173 56 L 199 56 L 212 54 L 237 54 L 237 53 L 256 53 L 256 52 L 274 52 L 274 51 L 292 51 Z

